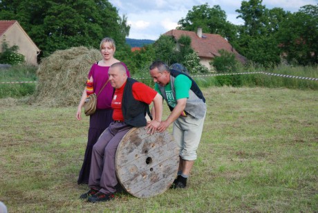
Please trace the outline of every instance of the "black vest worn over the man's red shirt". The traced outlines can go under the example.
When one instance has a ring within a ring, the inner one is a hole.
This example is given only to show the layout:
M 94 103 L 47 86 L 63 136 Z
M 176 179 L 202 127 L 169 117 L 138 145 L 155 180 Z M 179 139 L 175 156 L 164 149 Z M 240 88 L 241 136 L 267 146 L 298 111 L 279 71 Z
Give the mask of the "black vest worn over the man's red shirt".
M 127 78 L 122 95 L 122 114 L 126 124 L 133 127 L 145 127 L 147 125 L 146 113 L 151 118 L 149 105 L 133 98 L 133 84 L 135 82 L 138 81 Z

